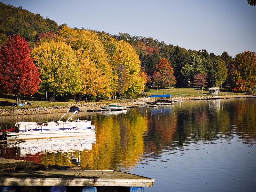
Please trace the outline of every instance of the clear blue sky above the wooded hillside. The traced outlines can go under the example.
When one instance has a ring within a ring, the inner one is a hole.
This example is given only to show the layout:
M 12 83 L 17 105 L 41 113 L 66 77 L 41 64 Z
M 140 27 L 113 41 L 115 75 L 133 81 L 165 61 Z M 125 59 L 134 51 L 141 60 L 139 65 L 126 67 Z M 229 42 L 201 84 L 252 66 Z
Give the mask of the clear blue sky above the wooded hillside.
M 128 33 L 232 57 L 256 52 L 256 6 L 247 0 L 0 0 L 58 25 Z

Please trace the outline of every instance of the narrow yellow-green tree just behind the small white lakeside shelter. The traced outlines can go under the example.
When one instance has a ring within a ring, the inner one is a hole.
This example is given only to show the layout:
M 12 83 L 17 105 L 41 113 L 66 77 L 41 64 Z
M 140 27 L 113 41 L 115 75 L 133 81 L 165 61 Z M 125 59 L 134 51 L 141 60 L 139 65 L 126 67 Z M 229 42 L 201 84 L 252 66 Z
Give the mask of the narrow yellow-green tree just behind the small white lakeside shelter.
M 228 69 L 226 67 L 226 63 L 222 59 L 217 60 L 213 76 L 215 77 L 215 85 L 217 87 L 221 85 L 222 88 L 222 83 L 224 83 L 228 76 Z

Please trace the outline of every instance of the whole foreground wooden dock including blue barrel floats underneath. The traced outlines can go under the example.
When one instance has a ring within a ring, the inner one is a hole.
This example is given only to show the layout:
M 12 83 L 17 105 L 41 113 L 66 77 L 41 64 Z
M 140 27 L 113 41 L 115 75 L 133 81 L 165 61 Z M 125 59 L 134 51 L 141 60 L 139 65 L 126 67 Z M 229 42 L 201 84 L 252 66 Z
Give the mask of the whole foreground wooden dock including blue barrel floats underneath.
M 35 167 L 34 163 L 0 159 L 0 167 L 2 169 L 7 168 L 0 172 L 0 191 L 3 189 L 10 192 L 54 191 L 52 190 L 54 186 L 60 186 L 65 189 L 68 188 L 69 191 L 133 192 L 144 191 L 144 187 L 153 186 L 155 181 L 140 175 L 116 170 L 74 170 L 76 168 L 69 167 L 68 170 L 64 171 L 24 171 L 33 165 Z M 18 167 L 19 165 L 22 167 Z M 40 166 L 47 168 L 45 165 Z M 58 192 L 65 192 L 65 190 Z

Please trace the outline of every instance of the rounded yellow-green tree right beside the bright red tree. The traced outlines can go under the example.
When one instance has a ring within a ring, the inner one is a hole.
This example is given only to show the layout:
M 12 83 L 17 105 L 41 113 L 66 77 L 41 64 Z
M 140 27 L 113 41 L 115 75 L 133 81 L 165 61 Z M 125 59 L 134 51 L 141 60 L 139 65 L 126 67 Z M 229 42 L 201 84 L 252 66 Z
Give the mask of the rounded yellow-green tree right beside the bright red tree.
M 32 50 L 32 56 L 40 67 L 40 93 L 52 95 L 79 92 L 80 68 L 75 52 L 65 42 L 45 42 Z

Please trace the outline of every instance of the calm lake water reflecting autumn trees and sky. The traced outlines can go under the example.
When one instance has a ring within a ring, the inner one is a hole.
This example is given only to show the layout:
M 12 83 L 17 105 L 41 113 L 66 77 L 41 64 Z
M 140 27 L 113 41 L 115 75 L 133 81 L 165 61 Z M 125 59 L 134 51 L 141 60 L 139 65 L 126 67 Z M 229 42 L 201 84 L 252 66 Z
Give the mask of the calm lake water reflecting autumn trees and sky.
M 256 98 L 187 100 L 124 112 L 80 112 L 96 137 L 0 145 L 1 157 L 119 170 L 155 179 L 145 192 L 255 191 Z M 0 127 L 62 114 L 0 116 Z

